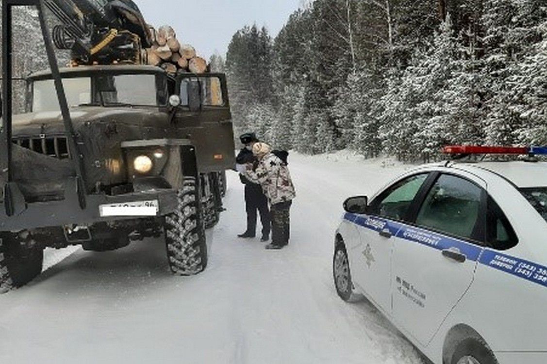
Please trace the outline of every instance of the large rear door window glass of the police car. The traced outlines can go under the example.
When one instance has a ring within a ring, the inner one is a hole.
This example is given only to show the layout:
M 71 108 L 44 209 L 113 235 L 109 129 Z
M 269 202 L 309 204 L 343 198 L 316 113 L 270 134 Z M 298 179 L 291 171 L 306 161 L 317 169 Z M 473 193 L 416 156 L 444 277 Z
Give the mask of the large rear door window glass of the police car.
M 478 234 L 480 187 L 453 175 L 443 174 L 429 191 L 416 224 L 462 238 L 484 240 Z M 482 224 L 484 226 L 484 224 Z

